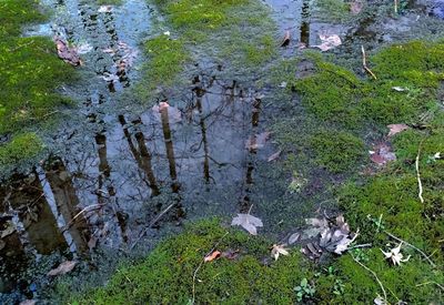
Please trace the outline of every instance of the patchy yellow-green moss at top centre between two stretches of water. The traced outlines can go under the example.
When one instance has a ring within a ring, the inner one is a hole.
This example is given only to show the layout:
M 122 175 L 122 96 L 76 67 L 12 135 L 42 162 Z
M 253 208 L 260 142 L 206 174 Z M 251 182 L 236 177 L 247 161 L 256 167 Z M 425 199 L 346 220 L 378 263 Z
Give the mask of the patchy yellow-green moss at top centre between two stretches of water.
M 147 42 L 149 63 L 145 81 L 141 84 L 142 92 L 173 87 L 183 71 L 192 70 L 194 60 L 206 64 L 222 63 L 240 73 L 244 69 L 258 70 L 258 65 L 275 55 L 275 26 L 266 8 L 258 1 L 153 2 L 165 16 L 160 28 L 172 29 L 171 37 L 155 34 Z

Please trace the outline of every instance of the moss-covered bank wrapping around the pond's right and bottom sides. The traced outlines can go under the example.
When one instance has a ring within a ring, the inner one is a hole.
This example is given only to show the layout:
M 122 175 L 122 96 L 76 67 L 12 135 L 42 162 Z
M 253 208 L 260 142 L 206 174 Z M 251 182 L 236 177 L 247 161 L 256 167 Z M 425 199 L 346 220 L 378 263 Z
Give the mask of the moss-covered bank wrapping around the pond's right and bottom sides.
M 332 177 L 347 173 L 333 196 L 351 227 L 360 228 L 355 244 L 365 247 L 313 264 L 296 246 L 274 262 L 270 247 L 276 241 L 205 221 L 164 241 L 143 262 L 119 268 L 105 287 L 71 302 L 192 303 L 193 274 L 214 246 L 239 255 L 202 264 L 194 278 L 198 304 L 371 304 L 377 296 L 390 304 L 444 302 L 444 114 L 437 102 L 443 48 L 413 41 L 382 49 L 370 58 L 377 80 L 311 53 L 276 68 L 272 82 L 286 82 L 279 98 L 301 112 L 289 111 L 276 121 L 276 141 L 284 151 L 278 164 L 295 172 L 317 166 Z M 301 62 L 310 69 L 295 77 Z M 391 123 L 411 128 L 387 139 Z M 377 141 L 392 142 L 397 156 L 382 169 L 367 161 Z M 395 266 L 382 250 L 400 240 L 404 258 L 411 257 Z

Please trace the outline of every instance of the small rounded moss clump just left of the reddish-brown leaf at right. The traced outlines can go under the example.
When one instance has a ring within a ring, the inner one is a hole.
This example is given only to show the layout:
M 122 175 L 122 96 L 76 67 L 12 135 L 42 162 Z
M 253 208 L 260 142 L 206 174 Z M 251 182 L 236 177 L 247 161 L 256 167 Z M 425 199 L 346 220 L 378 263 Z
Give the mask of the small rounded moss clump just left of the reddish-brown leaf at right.
M 364 143 L 353 134 L 321 131 L 310 139 L 316 162 L 332 173 L 353 169 L 362 159 Z

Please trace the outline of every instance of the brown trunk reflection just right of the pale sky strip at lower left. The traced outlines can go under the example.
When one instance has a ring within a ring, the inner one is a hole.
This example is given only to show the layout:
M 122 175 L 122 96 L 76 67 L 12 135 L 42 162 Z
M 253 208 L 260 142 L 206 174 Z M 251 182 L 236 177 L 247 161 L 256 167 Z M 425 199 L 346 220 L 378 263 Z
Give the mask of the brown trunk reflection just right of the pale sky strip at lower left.
M 56 205 L 68 225 L 80 212 L 78 207 L 79 199 L 75 194 L 70 173 L 60 159 L 54 159 L 48 162 L 46 175 L 54 195 Z M 79 252 L 85 252 L 91 234 L 88 222 L 82 215 L 78 216 L 74 223 L 69 227 L 69 233 L 77 250 Z

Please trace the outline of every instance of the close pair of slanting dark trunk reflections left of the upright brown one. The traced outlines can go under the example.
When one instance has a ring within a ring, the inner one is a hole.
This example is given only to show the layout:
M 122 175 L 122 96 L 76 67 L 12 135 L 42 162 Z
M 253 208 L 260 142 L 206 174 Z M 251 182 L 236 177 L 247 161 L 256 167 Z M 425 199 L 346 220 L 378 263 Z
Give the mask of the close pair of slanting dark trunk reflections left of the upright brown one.
M 134 135 L 135 140 L 138 141 L 138 145 L 139 145 L 139 150 L 138 150 L 135 148 L 134 143 L 132 142 L 132 138 L 131 138 L 130 131 L 128 130 L 127 121 L 125 121 L 124 116 L 119 115 L 119 121 L 122 124 L 123 134 L 127 138 L 131 154 L 133 155 L 135 162 L 138 163 L 139 169 L 145 173 L 148 182 L 145 180 L 144 181 L 151 187 L 152 195 L 158 196 L 160 194 L 160 190 L 158 186 L 158 182 L 155 180 L 154 172 L 152 170 L 151 154 L 148 151 L 143 133 L 138 132 Z

